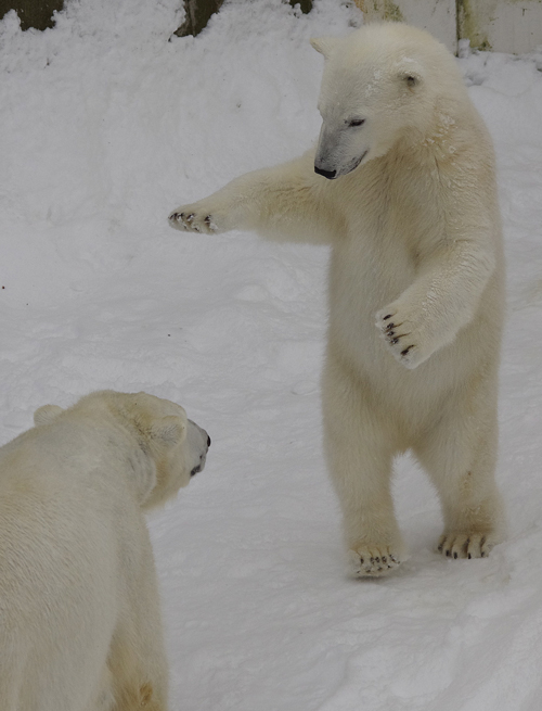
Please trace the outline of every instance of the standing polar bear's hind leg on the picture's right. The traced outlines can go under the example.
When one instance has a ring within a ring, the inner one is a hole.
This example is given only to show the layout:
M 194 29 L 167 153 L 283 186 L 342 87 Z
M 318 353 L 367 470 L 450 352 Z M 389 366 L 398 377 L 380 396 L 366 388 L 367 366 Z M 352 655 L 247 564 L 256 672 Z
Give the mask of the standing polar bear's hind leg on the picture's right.
M 490 383 L 486 384 L 490 386 Z M 496 384 L 494 385 L 496 391 Z M 438 543 L 451 558 L 483 558 L 504 537 L 494 480 L 498 422 L 494 398 L 478 392 L 448 408 L 414 447 L 440 496 L 444 530 Z

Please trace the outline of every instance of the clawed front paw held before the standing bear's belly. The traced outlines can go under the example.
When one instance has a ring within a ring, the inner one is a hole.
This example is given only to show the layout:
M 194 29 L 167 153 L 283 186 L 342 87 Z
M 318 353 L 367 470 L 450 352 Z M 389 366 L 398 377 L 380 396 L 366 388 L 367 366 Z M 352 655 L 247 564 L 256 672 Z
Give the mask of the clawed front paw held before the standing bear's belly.
M 413 320 L 391 304 L 376 314 L 375 323 L 391 355 L 409 370 L 416 368 L 433 353 L 422 347 L 422 333 Z

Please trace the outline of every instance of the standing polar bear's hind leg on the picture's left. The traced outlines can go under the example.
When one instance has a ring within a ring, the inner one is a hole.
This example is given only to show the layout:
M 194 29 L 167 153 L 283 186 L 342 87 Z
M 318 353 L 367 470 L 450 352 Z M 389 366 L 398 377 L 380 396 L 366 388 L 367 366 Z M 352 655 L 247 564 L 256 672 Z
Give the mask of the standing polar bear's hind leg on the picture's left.
M 397 437 L 375 416 L 356 376 L 332 355 L 323 377 L 323 414 L 351 570 L 357 577 L 386 575 L 404 553 L 390 492 Z

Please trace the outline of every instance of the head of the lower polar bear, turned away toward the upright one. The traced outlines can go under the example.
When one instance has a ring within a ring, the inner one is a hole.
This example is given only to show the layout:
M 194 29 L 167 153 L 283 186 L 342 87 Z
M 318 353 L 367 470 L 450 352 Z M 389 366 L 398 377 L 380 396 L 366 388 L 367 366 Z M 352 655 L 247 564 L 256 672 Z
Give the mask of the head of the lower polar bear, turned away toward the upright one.
M 96 433 L 111 430 L 106 456 L 128 462 L 144 509 L 164 504 L 205 466 L 210 437 L 189 420 L 184 409 L 147 393 L 99 391 L 64 410 L 44 405 L 34 414 L 36 427 L 86 428 L 90 446 Z M 65 435 L 66 436 L 66 435 Z M 112 464 L 112 470 L 116 465 Z

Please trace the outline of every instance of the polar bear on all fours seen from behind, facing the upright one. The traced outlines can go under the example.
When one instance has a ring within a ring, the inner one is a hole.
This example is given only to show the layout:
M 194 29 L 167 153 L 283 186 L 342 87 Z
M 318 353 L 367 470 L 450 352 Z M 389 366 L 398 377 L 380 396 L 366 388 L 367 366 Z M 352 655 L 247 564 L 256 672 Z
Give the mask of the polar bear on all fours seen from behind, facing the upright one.
M 0 448 L 3 711 L 167 709 L 143 511 L 185 486 L 210 440 L 182 407 L 92 393 Z

